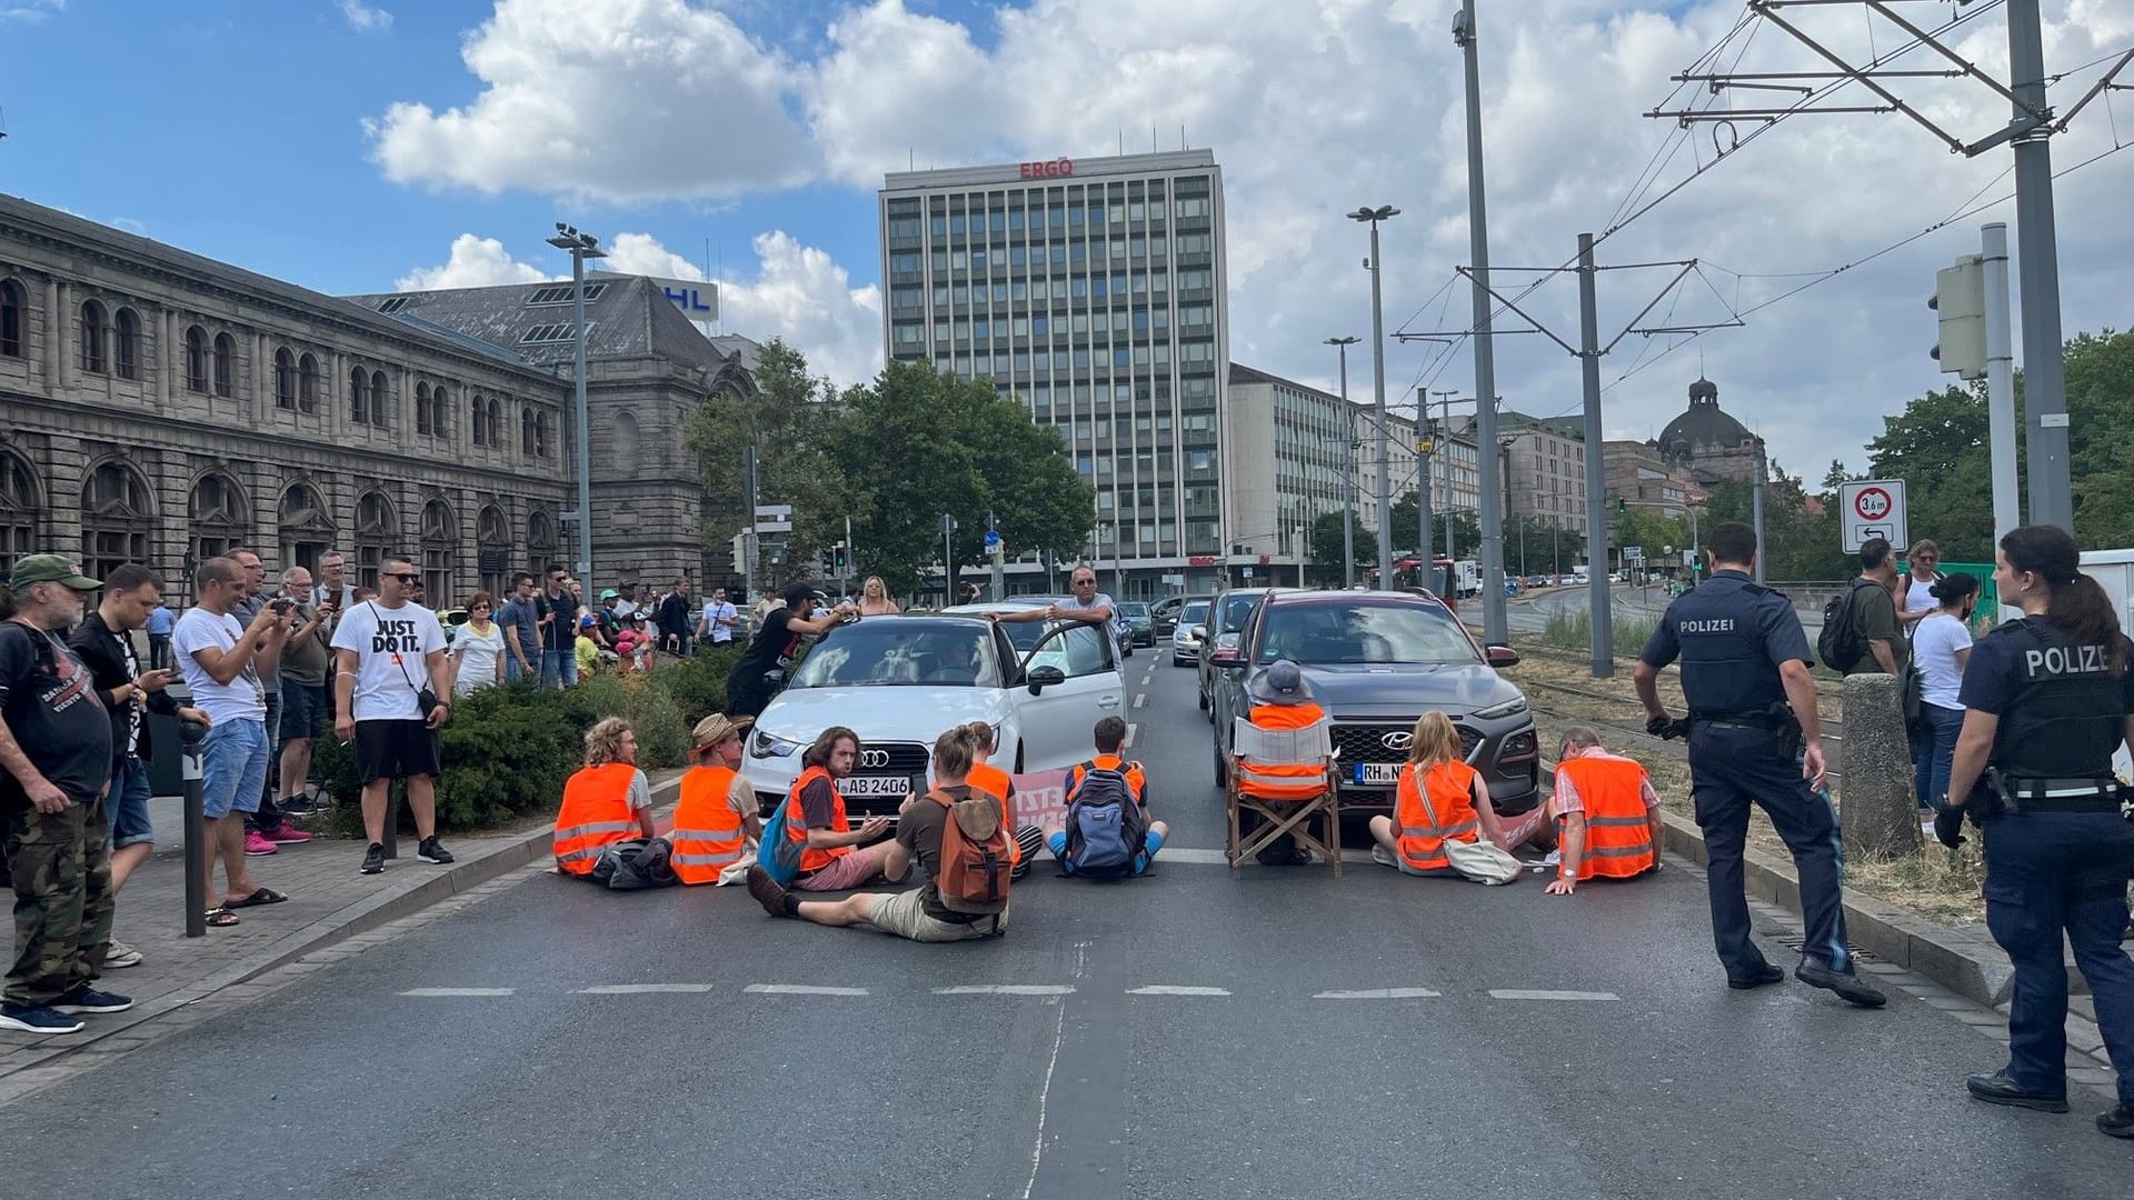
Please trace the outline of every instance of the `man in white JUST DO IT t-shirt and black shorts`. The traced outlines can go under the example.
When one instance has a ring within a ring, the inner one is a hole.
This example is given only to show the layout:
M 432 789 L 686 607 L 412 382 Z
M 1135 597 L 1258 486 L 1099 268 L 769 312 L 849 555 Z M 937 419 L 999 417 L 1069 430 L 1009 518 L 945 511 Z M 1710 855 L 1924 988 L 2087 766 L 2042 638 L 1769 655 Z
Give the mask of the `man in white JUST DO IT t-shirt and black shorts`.
M 437 615 L 410 600 L 414 564 L 388 557 L 378 568 L 378 598 L 341 613 L 333 630 L 333 732 L 356 743 L 363 781 L 363 873 L 386 869 L 386 792 L 408 779 L 416 858 L 450 863 L 437 843 L 437 726 L 452 711 L 452 677 Z

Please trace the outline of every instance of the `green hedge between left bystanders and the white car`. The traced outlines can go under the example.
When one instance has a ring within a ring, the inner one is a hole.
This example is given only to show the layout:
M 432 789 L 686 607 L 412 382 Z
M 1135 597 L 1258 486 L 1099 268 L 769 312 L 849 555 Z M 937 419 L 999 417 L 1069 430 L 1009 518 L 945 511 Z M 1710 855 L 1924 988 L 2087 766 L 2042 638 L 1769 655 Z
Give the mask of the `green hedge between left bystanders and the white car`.
M 489 828 L 555 814 L 563 781 L 585 762 L 585 730 L 625 717 L 638 735 L 638 767 L 681 767 L 689 728 L 726 705 L 726 673 L 738 651 L 662 662 L 653 673 L 602 673 L 576 688 L 542 692 L 527 681 L 452 702 L 440 735 L 437 828 Z M 339 833 L 363 833 L 356 756 L 331 732 L 318 739 L 316 773 L 337 801 Z M 401 826 L 412 828 L 401 805 Z

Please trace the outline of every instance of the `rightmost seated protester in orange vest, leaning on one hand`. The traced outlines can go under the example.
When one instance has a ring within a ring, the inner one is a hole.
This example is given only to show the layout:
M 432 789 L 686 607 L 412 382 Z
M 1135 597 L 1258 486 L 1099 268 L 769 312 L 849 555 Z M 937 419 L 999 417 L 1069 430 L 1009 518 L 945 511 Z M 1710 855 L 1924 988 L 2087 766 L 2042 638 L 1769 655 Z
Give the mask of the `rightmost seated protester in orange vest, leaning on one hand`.
M 1547 811 L 1562 831 L 1549 895 L 1568 897 L 1594 875 L 1628 880 L 1660 869 L 1660 794 L 1637 760 L 1600 749 L 1592 726 L 1564 728 Z

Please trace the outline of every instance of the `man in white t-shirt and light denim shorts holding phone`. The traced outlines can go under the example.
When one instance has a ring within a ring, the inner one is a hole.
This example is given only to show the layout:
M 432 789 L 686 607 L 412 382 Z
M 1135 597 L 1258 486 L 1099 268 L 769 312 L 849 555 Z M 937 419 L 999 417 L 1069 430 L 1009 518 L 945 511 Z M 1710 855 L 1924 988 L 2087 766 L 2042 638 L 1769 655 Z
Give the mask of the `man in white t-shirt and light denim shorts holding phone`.
M 288 897 L 252 880 L 245 865 L 245 814 L 260 807 L 267 792 L 267 690 L 254 666 L 260 647 L 280 649 L 288 636 L 294 604 L 262 604 L 250 626 L 239 626 L 230 609 L 245 598 L 245 570 L 228 557 L 211 557 L 192 572 L 192 609 L 171 632 L 171 651 L 192 692 L 192 707 L 207 713 L 201 739 L 201 805 L 207 816 L 207 846 L 222 856 L 228 888 L 209 905 L 209 925 L 237 925 L 233 910 L 282 903 Z

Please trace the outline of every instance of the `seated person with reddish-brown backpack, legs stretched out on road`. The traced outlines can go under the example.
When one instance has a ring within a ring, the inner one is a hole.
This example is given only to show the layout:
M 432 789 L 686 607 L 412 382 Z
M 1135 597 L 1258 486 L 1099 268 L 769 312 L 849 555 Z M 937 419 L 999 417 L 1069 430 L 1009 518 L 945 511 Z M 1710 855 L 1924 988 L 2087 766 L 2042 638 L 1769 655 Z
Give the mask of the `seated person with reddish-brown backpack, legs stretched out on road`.
M 858 743 L 858 739 L 854 739 Z M 965 912 L 967 899 L 950 907 L 947 899 L 965 897 L 958 882 L 969 882 L 956 850 L 988 841 L 1005 852 L 999 807 L 973 796 L 969 786 L 971 743 L 962 730 L 947 730 L 935 741 L 935 788 L 924 796 L 905 796 L 898 809 L 896 839 L 881 848 L 881 869 L 888 880 L 903 880 L 918 858 L 924 886 L 903 893 L 858 893 L 841 901 L 802 901 L 781 888 L 760 865 L 749 867 L 749 895 L 770 916 L 798 916 L 815 925 L 873 925 L 883 933 L 913 942 L 967 942 L 1007 933 L 1007 880 L 999 880 L 994 912 Z M 975 799 L 975 803 L 973 803 Z M 954 807 L 952 807 L 954 805 Z M 950 833 L 954 824 L 954 835 Z M 954 841 L 952 841 L 954 837 Z M 847 854 L 856 858 L 858 854 Z

